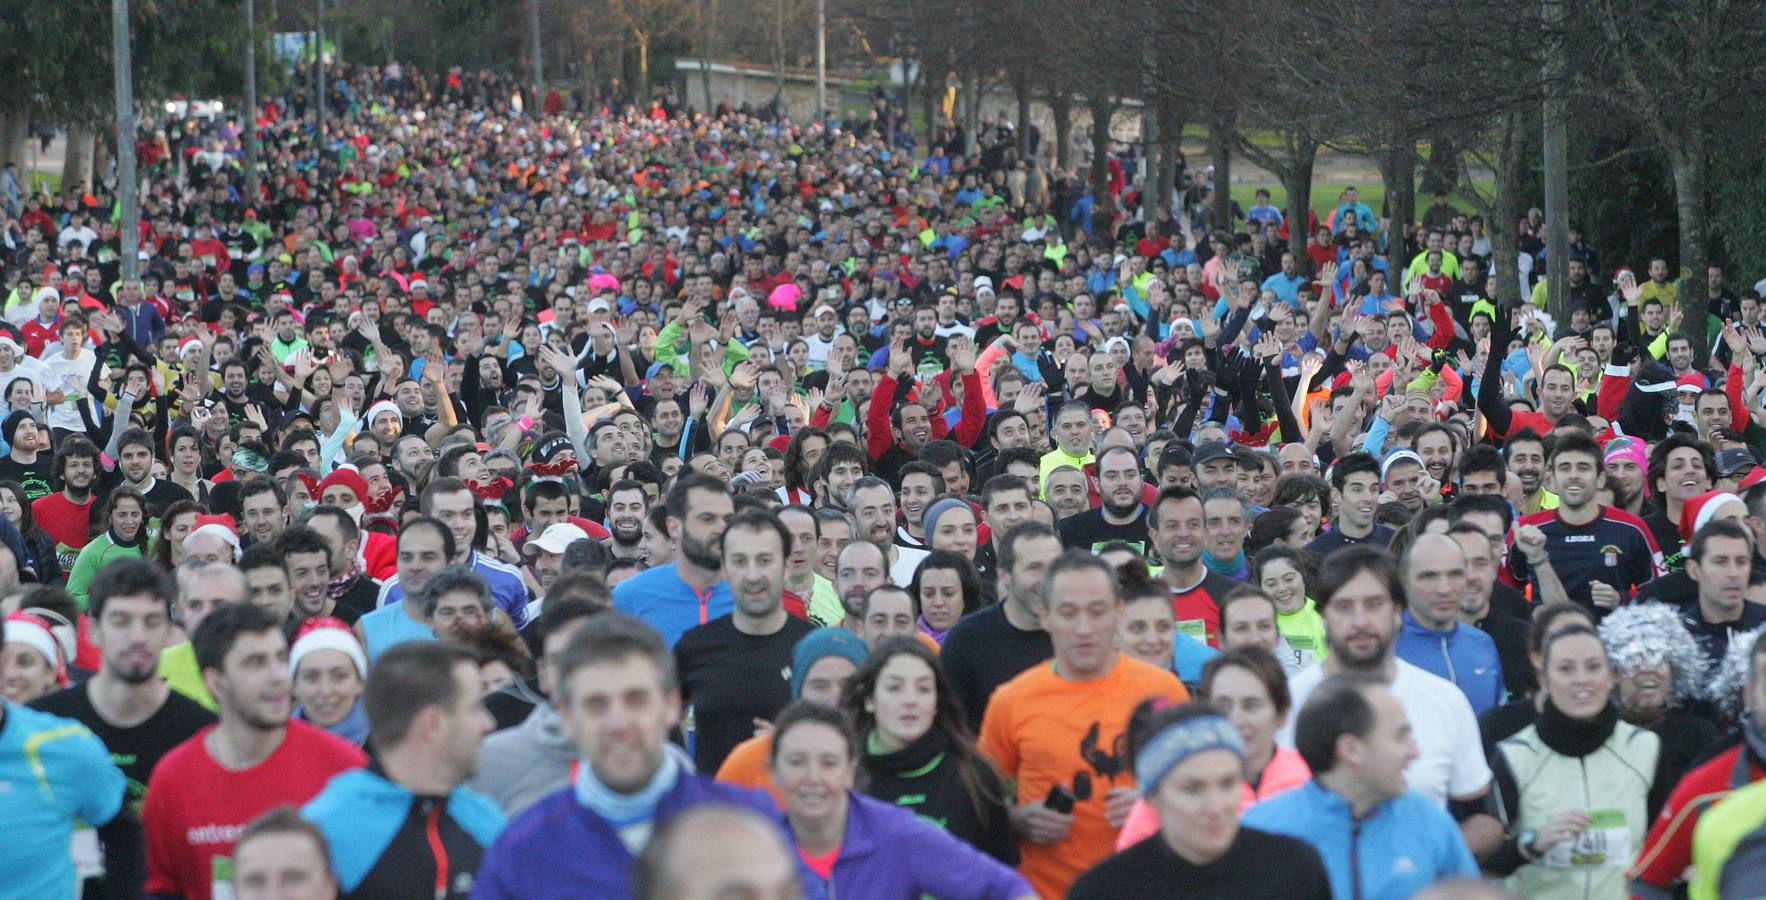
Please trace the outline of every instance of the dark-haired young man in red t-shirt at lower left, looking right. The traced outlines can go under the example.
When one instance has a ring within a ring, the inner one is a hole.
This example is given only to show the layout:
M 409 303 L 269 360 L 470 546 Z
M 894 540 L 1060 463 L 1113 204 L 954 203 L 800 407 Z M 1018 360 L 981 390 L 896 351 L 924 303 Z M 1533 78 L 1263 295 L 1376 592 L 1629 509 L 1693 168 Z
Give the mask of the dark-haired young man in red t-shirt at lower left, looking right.
M 147 784 L 147 893 L 210 900 L 230 891 L 226 858 L 245 822 L 306 803 L 339 771 L 366 766 L 355 745 L 290 718 L 288 639 L 251 604 L 196 628 L 196 660 L 221 704 L 219 724 L 166 754 Z

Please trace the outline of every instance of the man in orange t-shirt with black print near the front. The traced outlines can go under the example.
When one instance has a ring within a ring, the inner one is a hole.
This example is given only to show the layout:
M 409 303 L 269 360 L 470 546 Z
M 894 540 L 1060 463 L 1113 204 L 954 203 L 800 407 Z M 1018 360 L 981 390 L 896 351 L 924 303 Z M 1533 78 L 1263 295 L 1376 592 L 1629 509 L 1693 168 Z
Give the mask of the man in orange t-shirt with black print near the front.
M 1109 565 L 1067 551 L 1044 579 L 1040 619 L 1054 658 L 1007 681 L 982 720 L 982 752 L 1017 784 L 1019 872 L 1065 896 L 1114 849 L 1134 808 L 1128 715 L 1148 697 L 1189 701 L 1169 671 L 1118 653 L 1123 605 Z

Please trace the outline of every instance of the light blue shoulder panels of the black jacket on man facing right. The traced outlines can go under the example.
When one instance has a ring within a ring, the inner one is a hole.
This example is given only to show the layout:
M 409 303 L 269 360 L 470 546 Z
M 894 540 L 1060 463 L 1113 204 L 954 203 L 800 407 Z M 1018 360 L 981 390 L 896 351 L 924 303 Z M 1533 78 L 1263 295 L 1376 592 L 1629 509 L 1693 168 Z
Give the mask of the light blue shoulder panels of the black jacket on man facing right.
M 415 799 L 410 789 L 387 780 L 380 771 L 348 769 L 337 773 L 320 796 L 300 808 L 300 817 L 325 833 L 343 893 L 357 889 L 374 870 L 392 838 L 410 821 Z M 479 847 L 489 847 L 503 831 L 503 810 L 466 787 L 456 787 L 449 794 L 447 817 Z

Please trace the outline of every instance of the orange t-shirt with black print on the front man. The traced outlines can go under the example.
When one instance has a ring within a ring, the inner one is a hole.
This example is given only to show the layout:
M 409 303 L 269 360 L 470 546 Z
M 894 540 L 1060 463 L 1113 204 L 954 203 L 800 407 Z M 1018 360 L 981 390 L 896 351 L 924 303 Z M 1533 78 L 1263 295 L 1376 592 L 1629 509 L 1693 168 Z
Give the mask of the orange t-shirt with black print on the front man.
M 1060 844 L 1019 842 L 1017 870 L 1038 896 L 1065 896 L 1081 872 L 1116 849 L 1116 829 L 1104 819 L 1104 794 L 1134 787 L 1127 731 L 1134 708 L 1148 697 L 1185 702 L 1190 692 L 1178 676 L 1116 656 L 1097 681 L 1067 681 L 1053 664 L 1024 671 L 994 690 L 982 720 L 980 748 L 1017 784 L 1017 801 L 1033 803 L 1075 780 L 1091 789 L 1074 805 L 1074 828 Z

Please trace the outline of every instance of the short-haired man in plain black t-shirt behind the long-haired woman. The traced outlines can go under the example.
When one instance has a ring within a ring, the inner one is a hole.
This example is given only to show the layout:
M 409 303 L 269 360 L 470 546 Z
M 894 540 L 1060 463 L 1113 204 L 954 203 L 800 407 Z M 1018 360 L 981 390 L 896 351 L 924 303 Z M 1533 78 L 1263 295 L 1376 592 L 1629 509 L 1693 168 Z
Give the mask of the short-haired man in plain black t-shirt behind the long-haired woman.
M 722 542 L 724 581 L 735 607 L 689 628 L 675 644 L 682 701 L 692 706 L 692 757 L 717 771 L 724 757 L 791 702 L 791 651 L 814 630 L 784 611 L 784 572 L 791 533 L 777 515 L 745 510 Z

